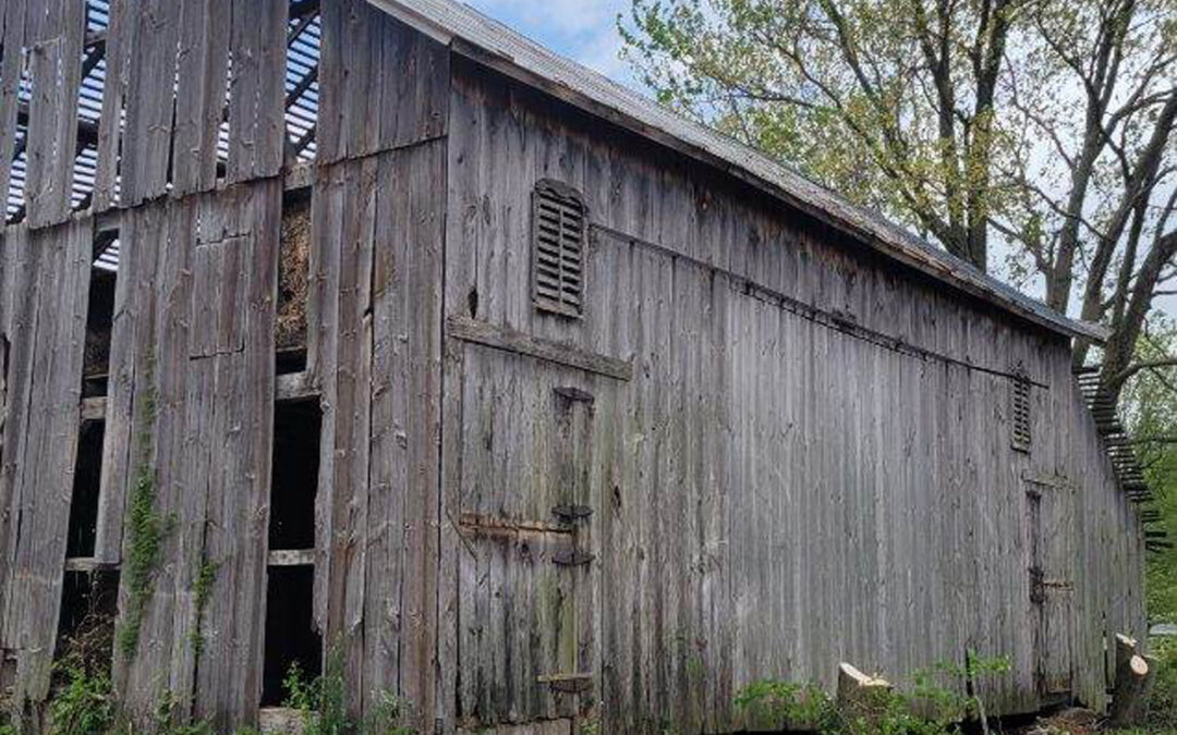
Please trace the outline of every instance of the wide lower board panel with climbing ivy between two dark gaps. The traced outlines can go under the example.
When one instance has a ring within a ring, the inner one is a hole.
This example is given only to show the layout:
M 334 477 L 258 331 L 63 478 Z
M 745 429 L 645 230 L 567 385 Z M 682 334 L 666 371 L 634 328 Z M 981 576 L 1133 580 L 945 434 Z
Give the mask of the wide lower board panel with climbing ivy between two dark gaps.
M 115 666 L 138 715 L 166 695 L 218 727 L 257 709 L 280 207 L 268 180 L 122 215 L 100 539 L 141 554 L 122 521 L 146 477 L 164 535 L 138 646 L 117 647 Z M 204 563 L 217 572 L 200 609 Z M 125 570 L 120 626 L 129 582 Z

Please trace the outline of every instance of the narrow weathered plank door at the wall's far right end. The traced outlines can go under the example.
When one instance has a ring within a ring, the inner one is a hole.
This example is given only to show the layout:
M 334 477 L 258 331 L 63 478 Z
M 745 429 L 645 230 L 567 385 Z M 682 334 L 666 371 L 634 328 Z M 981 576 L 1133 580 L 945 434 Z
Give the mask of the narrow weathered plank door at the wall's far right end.
M 1026 499 L 1038 694 L 1062 699 L 1071 693 L 1073 668 L 1075 486 L 1057 475 L 1028 475 Z

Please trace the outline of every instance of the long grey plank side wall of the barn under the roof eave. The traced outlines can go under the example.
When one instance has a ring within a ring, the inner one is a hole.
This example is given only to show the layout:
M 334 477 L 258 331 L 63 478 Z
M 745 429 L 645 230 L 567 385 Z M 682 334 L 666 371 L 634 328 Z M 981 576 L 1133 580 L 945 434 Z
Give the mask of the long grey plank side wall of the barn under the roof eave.
M 1011 657 L 1009 676 L 982 682 L 992 708 L 1036 708 L 1052 664 L 1036 654 L 1026 472 L 1076 487 L 1075 579 L 1052 602 L 1070 608 L 1071 628 L 1052 635 L 1070 649 L 1072 693 L 1104 701 L 1106 635 L 1143 626 L 1141 535 L 1064 341 L 902 278 L 812 221 L 481 67 L 454 68 L 446 314 L 633 362 L 604 412 L 616 426 L 598 415 L 590 442 L 610 457 L 593 461 L 601 502 L 588 549 L 606 730 L 723 730 L 738 724 L 732 697 L 751 681 L 829 684 L 839 661 L 900 676 L 966 649 Z M 525 202 L 543 178 L 579 188 L 594 223 L 581 320 L 530 302 Z M 447 360 L 450 507 L 474 488 L 541 487 L 499 476 L 512 452 L 534 452 L 527 432 L 503 440 L 501 457 L 467 443 L 486 439 L 488 415 L 496 442 L 499 429 L 548 421 L 527 376 L 558 369 L 480 367 L 496 358 L 479 350 Z M 1019 362 L 1035 381 L 1030 454 L 1010 446 Z M 451 443 L 459 432 L 465 443 Z M 480 606 L 481 588 L 488 600 L 501 592 L 504 609 L 525 604 L 506 595 L 525 567 L 479 562 L 486 547 L 454 521 L 447 510 L 439 650 L 444 670 L 464 671 L 454 717 L 550 716 L 530 681 L 547 662 L 516 656 L 511 640 L 543 641 L 554 621 Z M 479 563 L 486 572 L 471 572 Z

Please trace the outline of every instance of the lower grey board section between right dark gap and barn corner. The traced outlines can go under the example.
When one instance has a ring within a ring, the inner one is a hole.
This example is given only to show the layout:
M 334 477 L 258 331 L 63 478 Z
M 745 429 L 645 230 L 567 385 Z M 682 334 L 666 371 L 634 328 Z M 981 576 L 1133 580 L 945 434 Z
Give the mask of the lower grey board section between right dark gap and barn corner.
M 445 141 L 322 167 L 307 370 L 321 396 L 314 609 L 350 707 L 433 719 Z

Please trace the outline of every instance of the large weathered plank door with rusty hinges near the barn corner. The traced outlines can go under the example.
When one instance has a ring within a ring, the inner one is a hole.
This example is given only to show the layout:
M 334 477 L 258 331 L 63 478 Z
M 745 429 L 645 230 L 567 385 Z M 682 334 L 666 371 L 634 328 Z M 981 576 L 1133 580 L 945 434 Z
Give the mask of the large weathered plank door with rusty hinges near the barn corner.
M 460 401 L 447 429 L 459 446 L 446 447 L 460 462 L 459 722 L 574 717 L 597 679 L 594 453 L 612 381 L 477 342 L 450 349 L 461 390 L 447 399 Z

